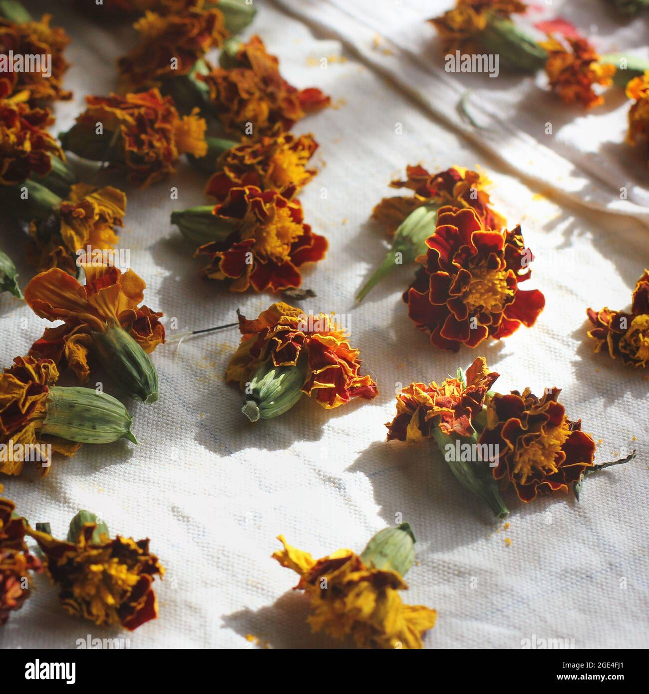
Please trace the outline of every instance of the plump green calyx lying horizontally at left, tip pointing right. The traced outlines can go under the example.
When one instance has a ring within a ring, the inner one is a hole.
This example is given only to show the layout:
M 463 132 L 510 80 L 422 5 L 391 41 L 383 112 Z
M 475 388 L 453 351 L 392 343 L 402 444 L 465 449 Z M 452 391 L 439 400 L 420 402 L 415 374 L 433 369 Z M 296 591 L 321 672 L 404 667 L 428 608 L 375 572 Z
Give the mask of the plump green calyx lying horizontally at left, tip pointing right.
M 119 400 L 92 388 L 53 386 L 47 398 L 42 433 L 78 443 L 112 443 L 128 439 L 133 417 Z

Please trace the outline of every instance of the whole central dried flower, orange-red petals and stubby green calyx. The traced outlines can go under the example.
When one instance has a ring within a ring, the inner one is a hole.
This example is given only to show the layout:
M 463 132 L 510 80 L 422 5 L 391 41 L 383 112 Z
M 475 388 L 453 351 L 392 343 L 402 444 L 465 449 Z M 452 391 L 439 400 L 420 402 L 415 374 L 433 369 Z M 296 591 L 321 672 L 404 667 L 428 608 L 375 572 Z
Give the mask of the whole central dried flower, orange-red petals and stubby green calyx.
M 257 418 L 283 414 L 303 393 L 326 409 L 378 395 L 374 380 L 360 375 L 359 350 L 350 346 L 335 316 L 307 316 L 274 303 L 257 319 L 239 316 L 239 330 L 241 343 L 226 381 L 238 381 L 246 393 L 244 414 L 246 407 L 255 409 Z M 275 380 L 276 389 L 269 380 Z

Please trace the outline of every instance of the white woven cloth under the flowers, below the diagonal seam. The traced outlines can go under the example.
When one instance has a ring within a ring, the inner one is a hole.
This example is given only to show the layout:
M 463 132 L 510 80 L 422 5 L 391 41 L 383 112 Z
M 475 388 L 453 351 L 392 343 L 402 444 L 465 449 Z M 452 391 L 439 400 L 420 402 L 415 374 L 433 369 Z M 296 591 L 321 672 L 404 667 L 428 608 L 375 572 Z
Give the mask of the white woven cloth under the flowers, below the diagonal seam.
M 129 29 L 93 24 L 63 3 L 29 5 L 35 14 L 53 11 L 72 37 L 65 84 L 74 90 L 74 101 L 56 109 L 56 128 L 65 130 L 86 94 L 115 88 L 115 58 L 134 36 Z M 372 3 L 376 11 L 382 5 Z M 316 6 L 321 15 L 314 14 Z M 361 6 L 353 4 L 355 11 Z M 83 446 L 69 461 L 56 462 L 47 477 L 26 470 L 2 480 L 5 496 L 31 523 L 49 521 L 60 536 L 71 516 L 85 508 L 105 518 L 113 534 L 151 538 L 151 550 L 167 567 L 165 579 L 155 582 L 160 618 L 133 634 L 99 629 L 67 616 L 40 578 L 37 591 L 0 629 L 3 648 L 76 648 L 87 634 L 128 637 L 130 648 L 257 648 L 246 634 L 271 648 L 348 648 L 347 642 L 310 634 L 307 603 L 291 591 L 297 576 L 270 558 L 280 546 L 276 535 L 285 534 L 314 557 L 339 548 L 360 552 L 372 534 L 398 518 L 412 525 L 417 538 L 403 599 L 438 611 L 425 648 L 521 648 L 534 638 L 564 638 L 575 648 L 649 645 L 648 380 L 593 355 L 585 320 L 587 306 L 630 303 L 647 264 L 646 230 L 621 209 L 580 204 L 579 187 L 574 203 L 562 196 L 559 204 L 545 185 L 523 183 L 510 167 L 387 83 L 365 55 L 361 62 L 338 34 L 349 30 L 347 24 L 326 29 L 331 7 L 325 1 L 281 7 L 260 2 L 246 35 L 262 36 L 291 83 L 332 94 L 335 108 L 294 128 L 311 131 L 321 144 L 319 175 L 301 201 L 306 221 L 330 242 L 326 259 L 305 273 L 304 286 L 317 298 L 302 307 L 348 314 L 351 343 L 378 380 L 380 396 L 333 411 L 303 398 L 284 416 L 251 425 L 239 411 L 238 389 L 224 383 L 236 330 L 187 340 L 179 348 L 160 346 L 153 353 L 160 400 L 149 406 L 126 401 L 140 446 Z M 297 19 L 287 10 L 310 15 Z M 394 24 L 401 13 L 404 5 Z M 364 37 L 359 29 L 358 40 Z M 400 65 L 405 69 L 405 60 Z M 382 232 L 369 221 L 373 205 L 394 194 L 389 180 L 417 162 L 430 170 L 481 164 L 487 171 L 495 208 L 509 226 L 521 223 L 537 256 L 530 283 L 545 293 L 546 308 L 534 328 L 457 355 L 432 348 L 401 301 L 413 267 L 396 271 L 355 306 L 355 291 L 386 251 Z M 584 187 L 605 190 L 586 171 L 578 178 Z M 126 185 L 119 177 L 108 180 Z M 237 308 L 254 317 L 273 301 L 266 294 L 229 294 L 199 276 L 199 262 L 169 214 L 204 204 L 204 183 L 181 163 L 168 183 L 144 191 L 126 188 L 120 248 L 130 249 L 133 270 L 147 282 L 146 305 L 164 311 L 168 327 L 175 317 L 180 332 L 230 323 Z M 178 187 L 178 201 L 169 199 L 171 186 Z M 636 217 L 646 212 L 634 210 Z M 22 262 L 24 235 L 4 217 L 1 223 L 1 248 L 20 261 L 24 286 L 32 273 Z M 26 305 L 0 296 L 2 364 L 26 353 L 45 325 Z M 385 443 L 383 423 L 394 414 L 400 384 L 439 382 L 478 354 L 501 374 L 501 392 L 562 387 L 568 416 L 582 418 L 584 429 L 602 439 L 598 462 L 633 448 L 637 461 L 589 478 L 579 504 L 559 495 L 524 505 L 507 492 L 511 515 L 505 530 L 460 487 L 432 444 Z M 106 391 L 119 394 L 111 389 L 110 375 L 104 378 Z

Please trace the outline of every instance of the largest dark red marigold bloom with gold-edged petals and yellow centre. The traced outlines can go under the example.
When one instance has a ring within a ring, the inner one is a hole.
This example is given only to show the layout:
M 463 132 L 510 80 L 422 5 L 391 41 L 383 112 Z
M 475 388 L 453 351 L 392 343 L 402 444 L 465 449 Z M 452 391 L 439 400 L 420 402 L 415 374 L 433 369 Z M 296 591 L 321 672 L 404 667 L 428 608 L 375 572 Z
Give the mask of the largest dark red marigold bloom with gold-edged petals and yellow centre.
M 487 337 L 512 335 L 521 323 L 534 325 L 545 298 L 538 289 L 519 289 L 532 260 L 520 226 L 485 229 L 472 208 L 445 207 L 426 245 L 403 300 L 433 345 L 457 352 L 462 344 L 476 347 Z

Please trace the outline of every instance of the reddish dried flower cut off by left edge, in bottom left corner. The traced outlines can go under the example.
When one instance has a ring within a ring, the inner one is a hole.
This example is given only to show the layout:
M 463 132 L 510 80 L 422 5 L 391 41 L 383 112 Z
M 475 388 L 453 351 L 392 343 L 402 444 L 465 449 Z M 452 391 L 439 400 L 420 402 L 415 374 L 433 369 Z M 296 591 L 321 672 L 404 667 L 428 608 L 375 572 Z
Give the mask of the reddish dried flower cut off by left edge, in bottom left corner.
M 15 508 L 14 502 L 0 498 L 0 627 L 7 623 L 9 613 L 20 609 L 29 597 L 29 573 L 42 570 L 40 559 L 25 543 L 26 524 L 24 518 L 14 514 Z

